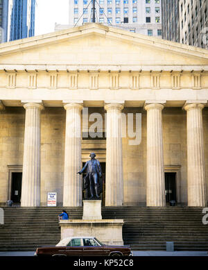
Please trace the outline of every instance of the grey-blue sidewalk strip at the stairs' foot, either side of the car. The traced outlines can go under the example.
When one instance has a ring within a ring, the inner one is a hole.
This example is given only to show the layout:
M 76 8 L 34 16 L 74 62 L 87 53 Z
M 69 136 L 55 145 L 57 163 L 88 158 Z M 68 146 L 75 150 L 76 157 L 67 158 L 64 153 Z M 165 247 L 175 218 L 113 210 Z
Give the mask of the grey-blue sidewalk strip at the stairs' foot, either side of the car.
M 1 256 L 33 256 L 34 251 L 2 251 Z M 133 251 L 134 256 L 208 256 L 207 251 Z

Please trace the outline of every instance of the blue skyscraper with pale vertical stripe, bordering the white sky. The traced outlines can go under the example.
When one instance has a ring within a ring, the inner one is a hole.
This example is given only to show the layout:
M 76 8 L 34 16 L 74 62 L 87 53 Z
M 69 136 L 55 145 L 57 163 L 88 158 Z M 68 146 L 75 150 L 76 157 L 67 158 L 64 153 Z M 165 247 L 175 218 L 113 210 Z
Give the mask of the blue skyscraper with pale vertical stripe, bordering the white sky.
M 10 41 L 35 34 L 35 0 L 13 0 L 10 18 Z

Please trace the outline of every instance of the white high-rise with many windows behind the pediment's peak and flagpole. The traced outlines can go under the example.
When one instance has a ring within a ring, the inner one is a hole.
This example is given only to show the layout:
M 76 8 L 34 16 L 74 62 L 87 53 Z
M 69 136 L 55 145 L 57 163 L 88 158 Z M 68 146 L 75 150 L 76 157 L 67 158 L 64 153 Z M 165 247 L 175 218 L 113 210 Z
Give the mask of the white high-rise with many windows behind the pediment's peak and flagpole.
M 162 36 L 161 0 L 96 0 L 96 22 L 130 32 Z M 92 22 L 92 0 L 69 0 L 69 25 L 55 30 Z

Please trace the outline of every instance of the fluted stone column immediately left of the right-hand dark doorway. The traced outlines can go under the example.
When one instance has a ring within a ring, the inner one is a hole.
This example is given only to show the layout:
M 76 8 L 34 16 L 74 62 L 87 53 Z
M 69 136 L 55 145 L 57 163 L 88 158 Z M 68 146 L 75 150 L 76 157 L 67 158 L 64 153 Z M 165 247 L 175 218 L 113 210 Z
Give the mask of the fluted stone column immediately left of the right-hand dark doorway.
M 147 110 L 147 178 L 146 205 L 165 206 L 162 109 L 159 103 L 145 106 Z

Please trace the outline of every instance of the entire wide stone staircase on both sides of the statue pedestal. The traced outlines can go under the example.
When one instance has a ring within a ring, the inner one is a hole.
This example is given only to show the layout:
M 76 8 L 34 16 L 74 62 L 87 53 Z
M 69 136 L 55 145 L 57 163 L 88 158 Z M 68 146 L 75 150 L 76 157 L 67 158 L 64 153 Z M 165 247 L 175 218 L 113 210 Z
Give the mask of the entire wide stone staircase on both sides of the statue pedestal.
M 62 208 L 4 210 L 0 225 L 0 251 L 35 251 L 60 241 L 58 214 Z M 82 219 L 83 208 L 64 208 L 70 219 Z M 124 219 L 123 241 L 137 251 L 164 251 L 173 241 L 175 251 L 208 251 L 208 225 L 202 224 L 202 208 L 105 207 L 103 219 Z

